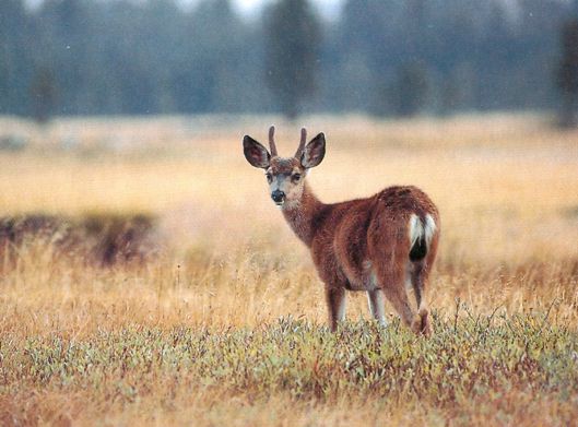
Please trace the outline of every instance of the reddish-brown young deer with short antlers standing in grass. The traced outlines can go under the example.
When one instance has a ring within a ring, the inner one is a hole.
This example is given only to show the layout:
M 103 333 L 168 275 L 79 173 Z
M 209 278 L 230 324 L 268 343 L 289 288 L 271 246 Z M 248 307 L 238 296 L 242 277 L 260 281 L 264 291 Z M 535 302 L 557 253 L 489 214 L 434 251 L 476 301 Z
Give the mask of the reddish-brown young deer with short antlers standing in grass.
M 305 177 L 321 163 L 326 139 L 319 133 L 306 145 L 302 129 L 293 157 L 280 157 L 274 127 L 271 153 L 246 135 L 245 157 L 266 170 L 271 199 L 310 249 L 326 286 L 329 324 L 337 329 L 345 316 L 345 289 L 365 290 L 373 317 L 386 325 L 385 298 L 416 333 L 430 334 L 425 290 L 439 241 L 439 216 L 429 198 L 415 187 L 389 187 L 367 199 L 321 203 Z M 413 287 L 417 315 L 405 287 Z

